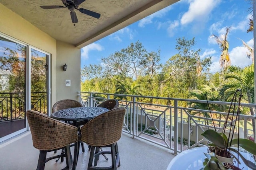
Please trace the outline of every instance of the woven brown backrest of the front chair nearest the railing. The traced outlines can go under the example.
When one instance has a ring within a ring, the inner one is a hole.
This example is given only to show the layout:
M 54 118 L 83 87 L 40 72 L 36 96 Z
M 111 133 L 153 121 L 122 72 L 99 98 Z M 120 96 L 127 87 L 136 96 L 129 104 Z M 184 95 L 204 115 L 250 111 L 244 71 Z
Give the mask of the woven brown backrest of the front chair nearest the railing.
M 122 133 L 125 109 L 112 109 L 90 120 L 81 128 L 81 140 L 100 147 L 117 142 Z

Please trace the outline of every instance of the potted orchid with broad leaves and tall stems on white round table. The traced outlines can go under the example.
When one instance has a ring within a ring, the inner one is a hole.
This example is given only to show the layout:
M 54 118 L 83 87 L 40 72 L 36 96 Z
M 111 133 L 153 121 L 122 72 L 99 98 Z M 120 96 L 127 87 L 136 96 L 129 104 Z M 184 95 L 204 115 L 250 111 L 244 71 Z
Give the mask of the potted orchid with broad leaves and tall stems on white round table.
M 237 93 L 240 92 L 238 98 L 238 106 L 236 106 L 236 102 L 234 102 L 234 106 L 232 108 L 233 101 L 236 101 Z M 249 139 L 233 139 L 234 137 L 234 129 L 236 127 L 236 122 L 238 121 L 238 136 L 239 136 L 239 120 L 240 120 L 240 101 L 242 97 L 241 90 L 236 90 L 232 102 L 230 104 L 228 115 L 226 117 L 226 121 L 224 123 L 224 127 L 221 133 L 216 131 L 215 125 L 214 129 L 208 129 L 202 133 L 202 136 L 208 139 L 208 151 L 209 154 L 206 155 L 206 159 L 204 161 L 204 170 L 215 170 L 215 169 L 233 169 L 240 170 L 233 164 L 232 158 L 236 159 L 238 164 L 240 164 L 240 159 L 248 166 L 249 168 L 256 170 L 256 164 L 244 158 L 241 154 L 239 148 L 243 148 L 244 150 L 250 152 L 253 155 L 256 155 L 256 143 Z M 230 110 L 233 111 L 230 116 Z M 235 110 L 237 110 L 236 114 L 234 114 Z M 212 115 L 212 114 L 211 114 Z M 228 125 L 228 118 L 231 119 L 229 131 L 226 131 L 226 126 Z M 234 122 L 234 124 L 232 124 Z M 228 133 L 228 137 L 225 135 Z M 234 148 L 232 146 L 236 145 L 238 148 Z M 231 158 L 231 160 L 222 160 L 222 158 Z

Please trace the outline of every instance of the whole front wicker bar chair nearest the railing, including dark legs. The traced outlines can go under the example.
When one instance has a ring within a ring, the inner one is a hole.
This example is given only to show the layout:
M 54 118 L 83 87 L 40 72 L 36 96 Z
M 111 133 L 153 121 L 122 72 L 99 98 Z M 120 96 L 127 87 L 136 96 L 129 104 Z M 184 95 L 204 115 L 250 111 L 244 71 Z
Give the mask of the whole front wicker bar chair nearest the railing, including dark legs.
M 91 152 L 88 170 L 113 169 L 120 166 L 120 157 L 117 141 L 121 137 L 124 123 L 125 109 L 123 107 L 112 109 L 98 115 L 81 128 L 81 140 L 90 145 Z M 100 147 L 110 147 L 111 151 L 99 151 Z M 100 154 L 111 154 L 112 166 L 96 167 Z M 94 166 L 92 165 L 94 159 Z

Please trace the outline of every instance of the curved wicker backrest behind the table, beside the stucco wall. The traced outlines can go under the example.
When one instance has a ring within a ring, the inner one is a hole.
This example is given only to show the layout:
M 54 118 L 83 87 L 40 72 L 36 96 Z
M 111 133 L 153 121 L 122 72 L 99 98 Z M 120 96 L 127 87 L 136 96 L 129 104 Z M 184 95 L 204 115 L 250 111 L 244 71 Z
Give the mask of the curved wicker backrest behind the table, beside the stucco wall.
M 83 107 L 83 105 L 80 102 L 72 99 L 60 100 L 52 106 L 52 113 L 59 110 L 63 110 L 63 109 L 73 108 L 73 107 Z

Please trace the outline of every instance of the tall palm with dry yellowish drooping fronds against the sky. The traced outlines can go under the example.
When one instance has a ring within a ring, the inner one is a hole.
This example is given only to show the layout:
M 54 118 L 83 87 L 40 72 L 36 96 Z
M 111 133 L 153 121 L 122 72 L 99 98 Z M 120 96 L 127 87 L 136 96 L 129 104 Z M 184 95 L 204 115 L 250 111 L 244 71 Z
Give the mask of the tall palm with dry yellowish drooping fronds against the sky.
M 226 28 L 226 34 L 225 35 L 220 35 L 220 37 L 216 35 L 212 35 L 218 45 L 220 46 L 220 49 L 222 51 L 220 55 L 220 68 L 226 68 L 227 66 L 230 66 L 230 57 L 228 53 L 228 48 L 229 48 L 229 43 L 228 43 L 228 33 L 230 31 L 231 27 Z

